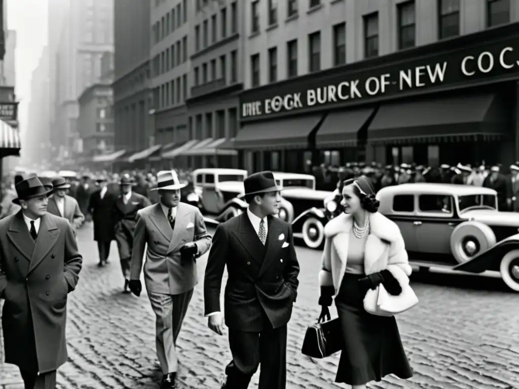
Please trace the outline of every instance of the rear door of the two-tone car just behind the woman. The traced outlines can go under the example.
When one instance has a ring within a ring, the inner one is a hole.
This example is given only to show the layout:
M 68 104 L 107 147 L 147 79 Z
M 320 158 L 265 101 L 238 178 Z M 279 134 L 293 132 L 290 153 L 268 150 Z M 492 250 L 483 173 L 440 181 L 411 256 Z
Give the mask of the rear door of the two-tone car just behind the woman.
M 393 210 L 388 217 L 400 228 L 408 252 L 418 251 L 415 225 L 415 196 L 395 195 L 393 197 Z

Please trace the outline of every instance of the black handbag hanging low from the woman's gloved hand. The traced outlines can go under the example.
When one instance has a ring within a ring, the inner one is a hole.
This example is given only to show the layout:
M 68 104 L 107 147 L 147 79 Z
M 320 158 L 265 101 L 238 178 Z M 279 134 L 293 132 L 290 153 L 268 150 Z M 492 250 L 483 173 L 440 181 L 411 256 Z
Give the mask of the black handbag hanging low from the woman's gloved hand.
M 306 329 L 301 352 L 312 358 L 324 358 L 343 348 L 343 334 L 339 318 L 316 323 Z

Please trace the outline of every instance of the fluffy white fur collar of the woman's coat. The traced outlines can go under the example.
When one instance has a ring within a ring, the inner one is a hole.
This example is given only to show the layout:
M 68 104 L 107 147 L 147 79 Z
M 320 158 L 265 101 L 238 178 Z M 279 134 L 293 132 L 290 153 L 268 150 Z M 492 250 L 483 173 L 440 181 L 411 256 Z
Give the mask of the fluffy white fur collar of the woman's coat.
M 370 234 L 389 243 L 400 239 L 400 229 L 394 221 L 389 220 L 381 213 L 368 213 L 370 218 Z M 334 237 L 341 232 L 348 233 L 353 227 L 353 217 L 342 213 L 336 216 L 324 226 L 324 236 L 326 238 Z

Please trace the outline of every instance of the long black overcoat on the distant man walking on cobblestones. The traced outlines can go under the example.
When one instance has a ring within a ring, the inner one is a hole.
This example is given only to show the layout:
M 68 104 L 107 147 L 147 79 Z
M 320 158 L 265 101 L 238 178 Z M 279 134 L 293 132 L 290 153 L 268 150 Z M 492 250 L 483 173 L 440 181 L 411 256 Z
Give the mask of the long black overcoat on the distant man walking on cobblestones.
M 92 215 L 94 224 L 94 241 L 111 242 L 114 240 L 114 203 L 117 195 L 106 190 L 101 199 L 101 190 L 92 193 L 88 212 Z

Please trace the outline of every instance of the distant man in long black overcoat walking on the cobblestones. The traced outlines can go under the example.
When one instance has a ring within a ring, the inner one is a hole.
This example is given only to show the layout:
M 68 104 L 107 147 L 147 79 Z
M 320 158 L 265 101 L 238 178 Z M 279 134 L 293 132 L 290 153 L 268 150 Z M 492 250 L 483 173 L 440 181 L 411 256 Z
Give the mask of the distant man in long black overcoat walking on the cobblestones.
M 101 267 L 108 262 L 110 244 L 114 240 L 114 203 L 116 196 L 108 191 L 108 180 L 105 176 L 97 179 L 99 189 L 90 196 L 88 213 L 92 215 L 94 225 L 94 241 L 97 242 L 99 263 Z

